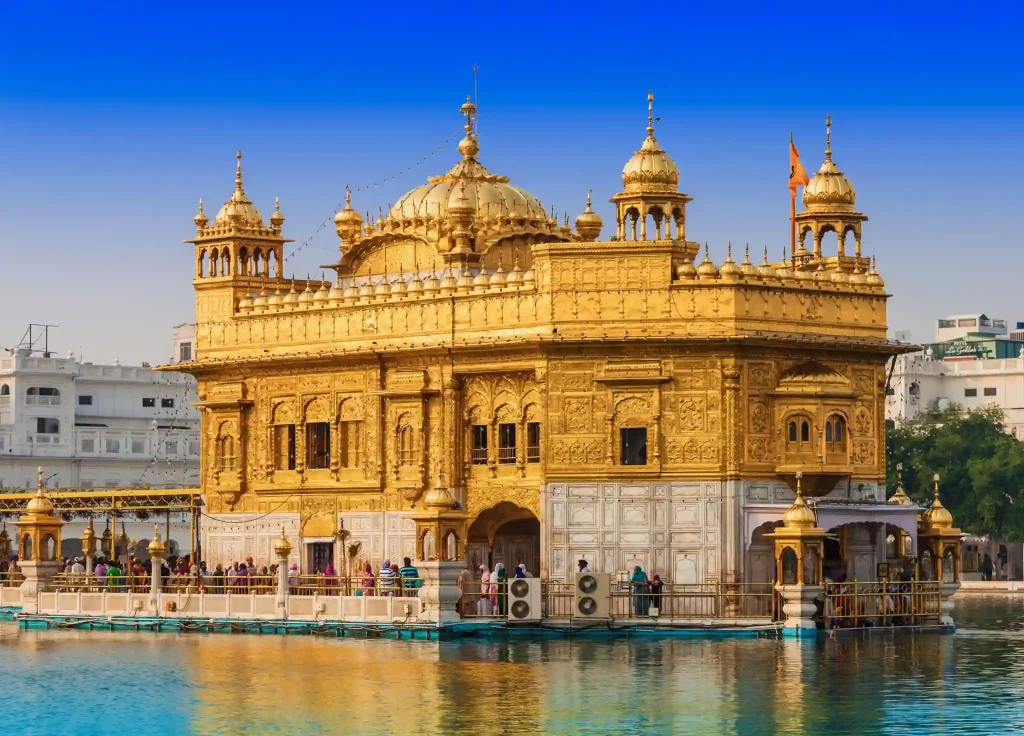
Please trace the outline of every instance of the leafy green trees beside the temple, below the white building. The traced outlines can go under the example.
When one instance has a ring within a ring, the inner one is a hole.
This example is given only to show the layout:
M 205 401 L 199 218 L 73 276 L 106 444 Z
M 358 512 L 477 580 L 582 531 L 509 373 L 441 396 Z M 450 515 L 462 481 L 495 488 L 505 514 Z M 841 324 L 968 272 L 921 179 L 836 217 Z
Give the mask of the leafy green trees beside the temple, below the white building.
M 1000 409 L 933 404 L 886 435 L 890 489 L 896 487 L 896 464 L 902 463 L 904 490 L 927 506 L 938 473 L 942 504 L 956 526 L 1024 538 L 1024 444 L 1006 432 Z

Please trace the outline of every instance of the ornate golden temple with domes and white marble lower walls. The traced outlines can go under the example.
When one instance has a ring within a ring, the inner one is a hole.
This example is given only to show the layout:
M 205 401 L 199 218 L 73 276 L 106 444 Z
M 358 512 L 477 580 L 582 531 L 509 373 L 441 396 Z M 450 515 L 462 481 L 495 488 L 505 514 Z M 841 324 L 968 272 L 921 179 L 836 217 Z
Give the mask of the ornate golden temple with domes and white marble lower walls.
M 285 218 L 264 222 L 239 155 L 230 199 L 196 216 L 198 352 L 176 366 L 199 379 L 209 562 L 270 562 L 284 528 L 307 572 L 343 569 L 346 539 L 375 565 L 766 581 L 800 473 L 834 530 L 825 574 L 873 579 L 920 509 L 885 503 L 901 348 L 854 187 L 829 137 L 796 257 L 716 265 L 652 107 L 602 241 L 590 196 L 573 230 L 483 167 L 467 99 L 446 174 L 376 222 L 347 193 L 333 283 L 284 276 Z

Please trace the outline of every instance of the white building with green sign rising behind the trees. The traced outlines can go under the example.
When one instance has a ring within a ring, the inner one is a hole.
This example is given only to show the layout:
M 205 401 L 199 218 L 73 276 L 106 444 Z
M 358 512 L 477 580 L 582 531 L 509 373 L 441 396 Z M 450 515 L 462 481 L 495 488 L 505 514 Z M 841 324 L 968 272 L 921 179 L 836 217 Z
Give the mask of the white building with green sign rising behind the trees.
M 994 405 L 1024 439 L 1024 323 L 957 314 L 937 320 L 934 343 L 895 358 L 886 419 L 913 419 L 932 402 L 966 409 Z

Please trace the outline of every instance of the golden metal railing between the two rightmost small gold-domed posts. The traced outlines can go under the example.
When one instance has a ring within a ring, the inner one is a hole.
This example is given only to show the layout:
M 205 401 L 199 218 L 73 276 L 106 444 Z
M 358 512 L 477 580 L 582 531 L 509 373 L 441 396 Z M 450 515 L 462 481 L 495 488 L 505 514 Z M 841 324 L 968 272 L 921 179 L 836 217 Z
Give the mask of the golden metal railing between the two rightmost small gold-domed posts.
M 938 623 L 939 583 L 929 580 L 825 583 L 825 629 Z

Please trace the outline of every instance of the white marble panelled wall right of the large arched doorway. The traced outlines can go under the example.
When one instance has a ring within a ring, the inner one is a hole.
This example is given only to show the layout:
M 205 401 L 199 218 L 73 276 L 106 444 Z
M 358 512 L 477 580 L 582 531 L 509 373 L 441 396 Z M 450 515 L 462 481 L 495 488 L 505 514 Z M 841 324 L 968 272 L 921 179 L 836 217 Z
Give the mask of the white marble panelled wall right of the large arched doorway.
M 677 582 L 724 579 L 723 484 L 548 483 L 542 489 L 542 549 L 550 579 L 568 579 L 577 560 Z

